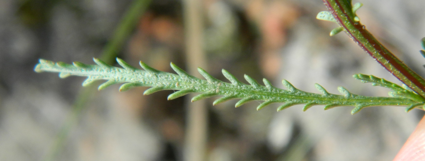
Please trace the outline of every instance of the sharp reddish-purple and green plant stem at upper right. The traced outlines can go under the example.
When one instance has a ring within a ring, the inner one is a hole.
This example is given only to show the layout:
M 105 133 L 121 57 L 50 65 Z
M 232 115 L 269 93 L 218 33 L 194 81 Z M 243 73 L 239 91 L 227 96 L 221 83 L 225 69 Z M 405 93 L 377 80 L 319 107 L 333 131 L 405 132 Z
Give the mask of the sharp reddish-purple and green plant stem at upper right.
M 425 80 L 386 49 L 365 26 L 354 21 L 351 0 L 323 0 L 338 24 L 365 52 L 397 79 L 425 98 Z

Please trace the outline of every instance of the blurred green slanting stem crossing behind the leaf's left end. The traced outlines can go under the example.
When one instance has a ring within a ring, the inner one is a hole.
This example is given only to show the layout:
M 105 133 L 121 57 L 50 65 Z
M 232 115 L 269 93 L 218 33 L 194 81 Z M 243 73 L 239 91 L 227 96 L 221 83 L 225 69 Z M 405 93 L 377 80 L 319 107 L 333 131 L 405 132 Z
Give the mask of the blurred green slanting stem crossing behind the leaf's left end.
M 112 64 L 117 56 L 117 53 L 122 49 L 125 41 L 128 39 L 133 29 L 139 22 L 140 16 L 146 11 L 151 0 L 135 0 L 131 3 L 124 14 L 121 22 L 116 28 L 112 38 L 108 41 L 102 55 L 100 56 L 106 63 Z M 90 100 L 93 95 L 96 86 L 82 88 L 77 96 L 74 105 L 72 105 L 72 112 L 68 114 L 65 124 L 62 126 L 59 134 L 51 145 L 51 149 L 48 151 L 45 161 L 54 161 L 62 150 L 65 140 L 68 138 L 69 131 L 77 123 L 78 117 L 81 116 L 82 109 L 84 109 L 86 103 Z

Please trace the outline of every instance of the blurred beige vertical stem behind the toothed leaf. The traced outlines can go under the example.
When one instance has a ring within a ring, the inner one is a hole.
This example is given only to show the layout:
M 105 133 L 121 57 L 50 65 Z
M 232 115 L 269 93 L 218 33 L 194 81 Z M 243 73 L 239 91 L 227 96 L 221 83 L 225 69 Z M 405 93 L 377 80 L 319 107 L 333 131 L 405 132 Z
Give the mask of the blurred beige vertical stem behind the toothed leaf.
M 183 0 L 187 68 L 189 74 L 200 76 L 197 67 L 207 70 L 204 54 L 203 0 Z M 193 97 L 193 96 L 192 96 Z M 187 105 L 184 161 L 204 161 L 207 145 L 207 107 L 200 100 Z

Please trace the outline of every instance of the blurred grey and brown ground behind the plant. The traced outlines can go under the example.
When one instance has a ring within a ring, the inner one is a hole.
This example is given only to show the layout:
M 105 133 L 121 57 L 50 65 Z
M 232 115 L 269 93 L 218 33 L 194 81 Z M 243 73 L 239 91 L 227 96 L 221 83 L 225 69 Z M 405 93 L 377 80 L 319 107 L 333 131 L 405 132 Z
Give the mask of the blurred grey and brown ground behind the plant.
M 368 30 L 425 76 L 425 58 L 418 52 L 425 1 L 356 2 L 364 4 L 357 15 Z M 234 108 L 237 100 L 212 106 L 214 99 L 207 99 L 197 104 L 205 109 L 198 115 L 205 122 L 193 127 L 188 126 L 196 122 L 190 119 L 189 97 L 167 101 L 173 91 L 143 96 L 147 87 L 120 93 L 118 85 L 97 91 L 101 81 L 81 87 L 85 78 L 33 71 L 39 58 L 94 64 L 98 57 L 116 65 L 120 57 L 167 72 L 172 72 L 170 62 L 189 71 L 205 62 L 198 66 L 221 80 L 224 68 L 240 80 L 248 74 L 282 87 L 286 79 L 314 93 L 319 83 L 331 93 L 343 86 L 356 94 L 387 96 L 385 88 L 353 79 L 357 73 L 400 84 L 346 34 L 329 36 L 337 24 L 315 19 L 326 11 L 321 0 L 191 3 L 1 0 L 0 160 L 391 160 L 424 115 L 417 109 L 405 113 L 403 107 L 366 108 L 355 115 L 352 107 L 313 106 L 302 112 L 303 105 L 256 111 L 256 101 Z M 190 20 L 191 15 L 198 19 Z M 189 35 L 201 40 L 197 56 L 187 54 L 193 47 Z M 197 150 L 187 150 L 191 128 L 205 129 L 193 133 L 201 135 Z M 187 157 L 190 153 L 199 158 Z

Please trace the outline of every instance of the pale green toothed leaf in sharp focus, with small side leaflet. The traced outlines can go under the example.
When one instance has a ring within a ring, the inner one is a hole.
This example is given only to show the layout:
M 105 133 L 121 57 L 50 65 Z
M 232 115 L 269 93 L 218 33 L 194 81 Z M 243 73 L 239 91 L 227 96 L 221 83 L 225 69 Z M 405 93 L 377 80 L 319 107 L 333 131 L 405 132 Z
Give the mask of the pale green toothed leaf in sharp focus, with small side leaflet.
M 262 109 L 269 104 L 283 103 L 278 107 L 278 111 L 286 109 L 297 104 L 305 104 L 303 111 L 306 111 L 314 105 L 324 105 L 324 109 L 331 109 L 336 106 L 354 106 L 351 114 L 359 112 L 361 109 L 369 106 L 407 106 L 406 111 L 415 107 L 423 108 L 425 99 L 409 90 L 407 87 L 401 87 L 385 79 L 364 74 L 354 75 L 355 79 L 362 82 L 370 82 L 372 85 L 386 87 L 391 90 L 390 97 L 370 97 L 360 96 L 349 92 L 344 87 L 338 87 L 341 95 L 327 92 L 319 84 L 315 87 L 320 93 L 309 93 L 295 88 L 286 80 L 282 84 L 286 90 L 274 87 L 267 79 L 263 79 L 264 85 L 248 75 L 244 78 L 249 83 L 245 84 L 226 70 L 222 70 L 223 75 L 229 80 L 223 82 L 215 79 L 202 68 L 198 68 L 199 73 L 204 79 L 196 78 L 183 71 L 181 68 L 171 63 L 171 68 L 177 74 L 158 71 L 143 62 L 140 66 L 144 69 L 137 69 L 127 64 L 123 60 L 116 59 L 122 68 L 108 65 L 107 63 L 94 58 L 97 65 L 86 65 L 80 62 L 74 62 L 72 65 L 40 59 L 40 63 L 34 68 L 37 72 L 57 72 L 59 77 L 67 76 L 87 76 L 82 83 L 88 86 L 96 80 L 107 80 L 99 85 L 99 90 L 103 90 L 111 85 L 124 83 L 119 87 L 119 91 L 126 91 L 133 87 L 146 86 L 151 87 L 144 91 L 144 95 L 149 95 L 160 90 L 178 90 L 168 96 L 168 100 L 184 96 L 188 93 L 200 93 L 192 98 L 192 101 L 198 101 L 213 96 L 222 96 L 213 102 L 213 105 L 220 104 L 232 99 L 241 99 L 235 104 L 235 107 L 241 106 L 249 101 L 263 101 L 258 105 L 257 110 Z

